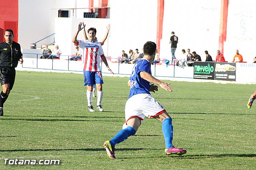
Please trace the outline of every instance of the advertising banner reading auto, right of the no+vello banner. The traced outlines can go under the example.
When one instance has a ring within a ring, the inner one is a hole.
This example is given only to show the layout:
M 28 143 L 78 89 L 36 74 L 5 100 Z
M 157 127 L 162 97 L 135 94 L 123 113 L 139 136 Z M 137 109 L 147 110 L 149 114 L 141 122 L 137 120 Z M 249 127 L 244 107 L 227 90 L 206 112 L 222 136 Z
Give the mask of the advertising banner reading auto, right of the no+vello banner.
M 216 63 L 214 80 L 236 81 L 236 63 Z

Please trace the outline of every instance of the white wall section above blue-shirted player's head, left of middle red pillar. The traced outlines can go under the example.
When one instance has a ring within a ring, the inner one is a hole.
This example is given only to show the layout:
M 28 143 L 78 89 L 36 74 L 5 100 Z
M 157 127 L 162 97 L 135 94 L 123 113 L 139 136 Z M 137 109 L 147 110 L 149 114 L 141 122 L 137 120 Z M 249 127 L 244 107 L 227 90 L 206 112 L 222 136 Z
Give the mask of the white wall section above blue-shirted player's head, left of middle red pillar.
M 110 1 L 109 55 L 118 57 L 122 50 L 142 52 L 145 42 L 156 42 L 157 0 Z

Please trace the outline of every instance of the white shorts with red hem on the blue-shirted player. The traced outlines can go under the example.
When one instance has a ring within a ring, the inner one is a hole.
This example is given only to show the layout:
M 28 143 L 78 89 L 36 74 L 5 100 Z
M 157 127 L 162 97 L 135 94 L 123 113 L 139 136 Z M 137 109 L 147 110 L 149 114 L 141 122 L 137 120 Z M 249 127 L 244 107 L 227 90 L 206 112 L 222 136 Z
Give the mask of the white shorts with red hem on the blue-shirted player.
M 125 121 L 138 117 L 142 123 L 145 117 L 149 119 L 165 112 L 164 107 L 156 99 L 146 93 L 133 95 L 125 104 Z

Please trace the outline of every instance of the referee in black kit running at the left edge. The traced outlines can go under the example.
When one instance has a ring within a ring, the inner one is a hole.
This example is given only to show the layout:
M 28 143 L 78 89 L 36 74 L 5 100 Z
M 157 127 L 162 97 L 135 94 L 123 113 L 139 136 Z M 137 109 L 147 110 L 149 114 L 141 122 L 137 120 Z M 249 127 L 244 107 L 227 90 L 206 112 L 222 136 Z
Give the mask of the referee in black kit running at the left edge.
M 5 42 L 0 43 L 0 82 L 3 90 L 0 94 L 0 116 L 4 115 L 4 102 L 8 98 L 15 81 L 15 67 L 23 63 L 20 44 L 12 41 L 14 35 L 10 29 L 5 30 Z

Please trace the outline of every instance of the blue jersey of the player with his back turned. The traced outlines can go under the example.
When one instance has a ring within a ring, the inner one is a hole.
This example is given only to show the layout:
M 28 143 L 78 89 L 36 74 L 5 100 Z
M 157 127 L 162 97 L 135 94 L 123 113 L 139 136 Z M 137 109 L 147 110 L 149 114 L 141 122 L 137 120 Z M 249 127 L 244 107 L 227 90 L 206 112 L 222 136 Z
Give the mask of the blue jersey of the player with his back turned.
M 150 82 L 140 77 L 140 71 L 145 71 L 151 74 L 151 64 L 147 59 L 141 59 L 132 69 L 129 98 L 140 93 L 150 94 Z

